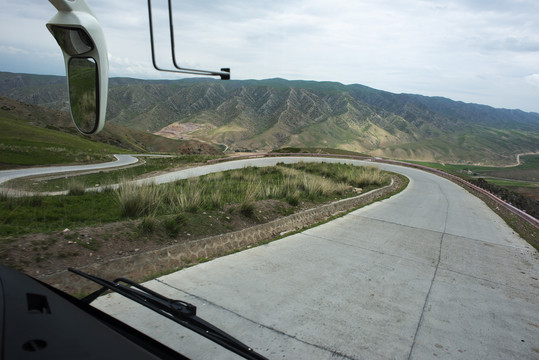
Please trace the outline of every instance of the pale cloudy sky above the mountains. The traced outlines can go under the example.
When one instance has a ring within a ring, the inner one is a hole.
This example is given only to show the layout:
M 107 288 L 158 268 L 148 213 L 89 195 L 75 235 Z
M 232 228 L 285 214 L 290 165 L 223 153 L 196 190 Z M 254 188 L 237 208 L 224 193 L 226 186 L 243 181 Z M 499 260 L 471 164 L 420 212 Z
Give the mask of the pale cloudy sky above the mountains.
M 145 0 L 87 0 L 110 76 L 181 78 L 151 65 Z M 170 64 L 166 1 L 153 0 L 158 63 Z M 233 79 L 358 83 L 539 112 L 537 0 L 173 0 L 184 67 Z M 64 75 L 45 0 L 5 1 L 0 71 Z

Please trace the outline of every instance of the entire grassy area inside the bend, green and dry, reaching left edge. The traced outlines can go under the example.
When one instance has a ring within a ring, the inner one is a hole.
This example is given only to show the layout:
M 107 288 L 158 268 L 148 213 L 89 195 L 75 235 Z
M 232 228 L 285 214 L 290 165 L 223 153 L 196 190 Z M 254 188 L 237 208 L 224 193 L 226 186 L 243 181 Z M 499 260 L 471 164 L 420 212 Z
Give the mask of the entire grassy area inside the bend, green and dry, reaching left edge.
M 257 219 L 260 201 L 277 200 L 291 206 L 323 203 L 354 196 L 359 186 L 366 190 L 389 181 L 389 175 L 375 167 L 298 163 L 249 167 L 159 186 L 124 182 L 114 192 L 78 196 L 4 195 L 0 198 L 0 236 L 51 232 L 126 218 L 141 218 L 144 232 L 155 231 L 162 222 L 173 236 L 182 224 L 196 224 L 202 212 L 222 217 L 226 216 L 225 210 L 238 211 Z

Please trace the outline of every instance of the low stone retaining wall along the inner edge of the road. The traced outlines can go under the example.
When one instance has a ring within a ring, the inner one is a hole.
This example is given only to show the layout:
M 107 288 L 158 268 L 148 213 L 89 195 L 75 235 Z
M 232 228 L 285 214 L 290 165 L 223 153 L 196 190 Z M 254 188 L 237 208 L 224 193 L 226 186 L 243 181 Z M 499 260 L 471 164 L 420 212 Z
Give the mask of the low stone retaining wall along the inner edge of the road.
M 300 213 L 292 214 L 274 221 L 253 226 L 232 233 L 188 241 L 165 248 L 112 259 L 102 263 L 79 268 L 84 272 L 113 280 L 125 277 L 140 282 L 158 275 L 199 262 L 201 259 L 216 258 L 234 251 L 256 246 L 270 241 L 284 233 L 328 220 L 332 216 L 358 208 L 376 199 L 383 198 L 403 186 L 402 180 L 392 176 L 391 185 L 358 195 L 353 198 L 335 201 Z M 70 294 L 89 293 L 98 288 L 92 282 L 62 271 L 42 276 L 40 280 Z

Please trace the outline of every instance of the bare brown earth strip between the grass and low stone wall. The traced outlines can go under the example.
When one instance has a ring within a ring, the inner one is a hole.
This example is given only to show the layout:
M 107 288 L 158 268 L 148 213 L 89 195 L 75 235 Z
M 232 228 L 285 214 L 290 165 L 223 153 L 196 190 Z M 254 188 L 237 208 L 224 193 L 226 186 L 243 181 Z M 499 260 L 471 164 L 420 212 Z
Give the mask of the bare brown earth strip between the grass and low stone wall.
M 240 205 L 233 205 L 220 211 L 199 212 L 177 218 L 158 218 L 151 230 L 142 226 L 142 220 L 128 220 L 64 229 L 50 234 L 27 234 L 4 239 L 0 249 L 0 261 L 26 274 L 39 277 L 68 267 L 80 268 L 138 252 L 245 229 L 313 206 L 316 204 L 304 203 L 293 208 L 283 201 L 264 200 L 257 202 L 253 212 L 247 215 L 240 211 Z

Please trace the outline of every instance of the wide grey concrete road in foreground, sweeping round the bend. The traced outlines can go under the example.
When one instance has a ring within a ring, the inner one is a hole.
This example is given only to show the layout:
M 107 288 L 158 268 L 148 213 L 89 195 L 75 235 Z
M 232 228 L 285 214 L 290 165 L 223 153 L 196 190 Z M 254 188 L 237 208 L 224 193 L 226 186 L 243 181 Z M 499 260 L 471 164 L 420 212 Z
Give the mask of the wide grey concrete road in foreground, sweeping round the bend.
M 226 166 L 276 161 L 297 159 Z M 270 359 L 539 359 L 537 251 L 448 180 L 379 166 L 409 187 L 145 285 Z M 94 304 L 194 359 L 236 358 L 120 296 Z

